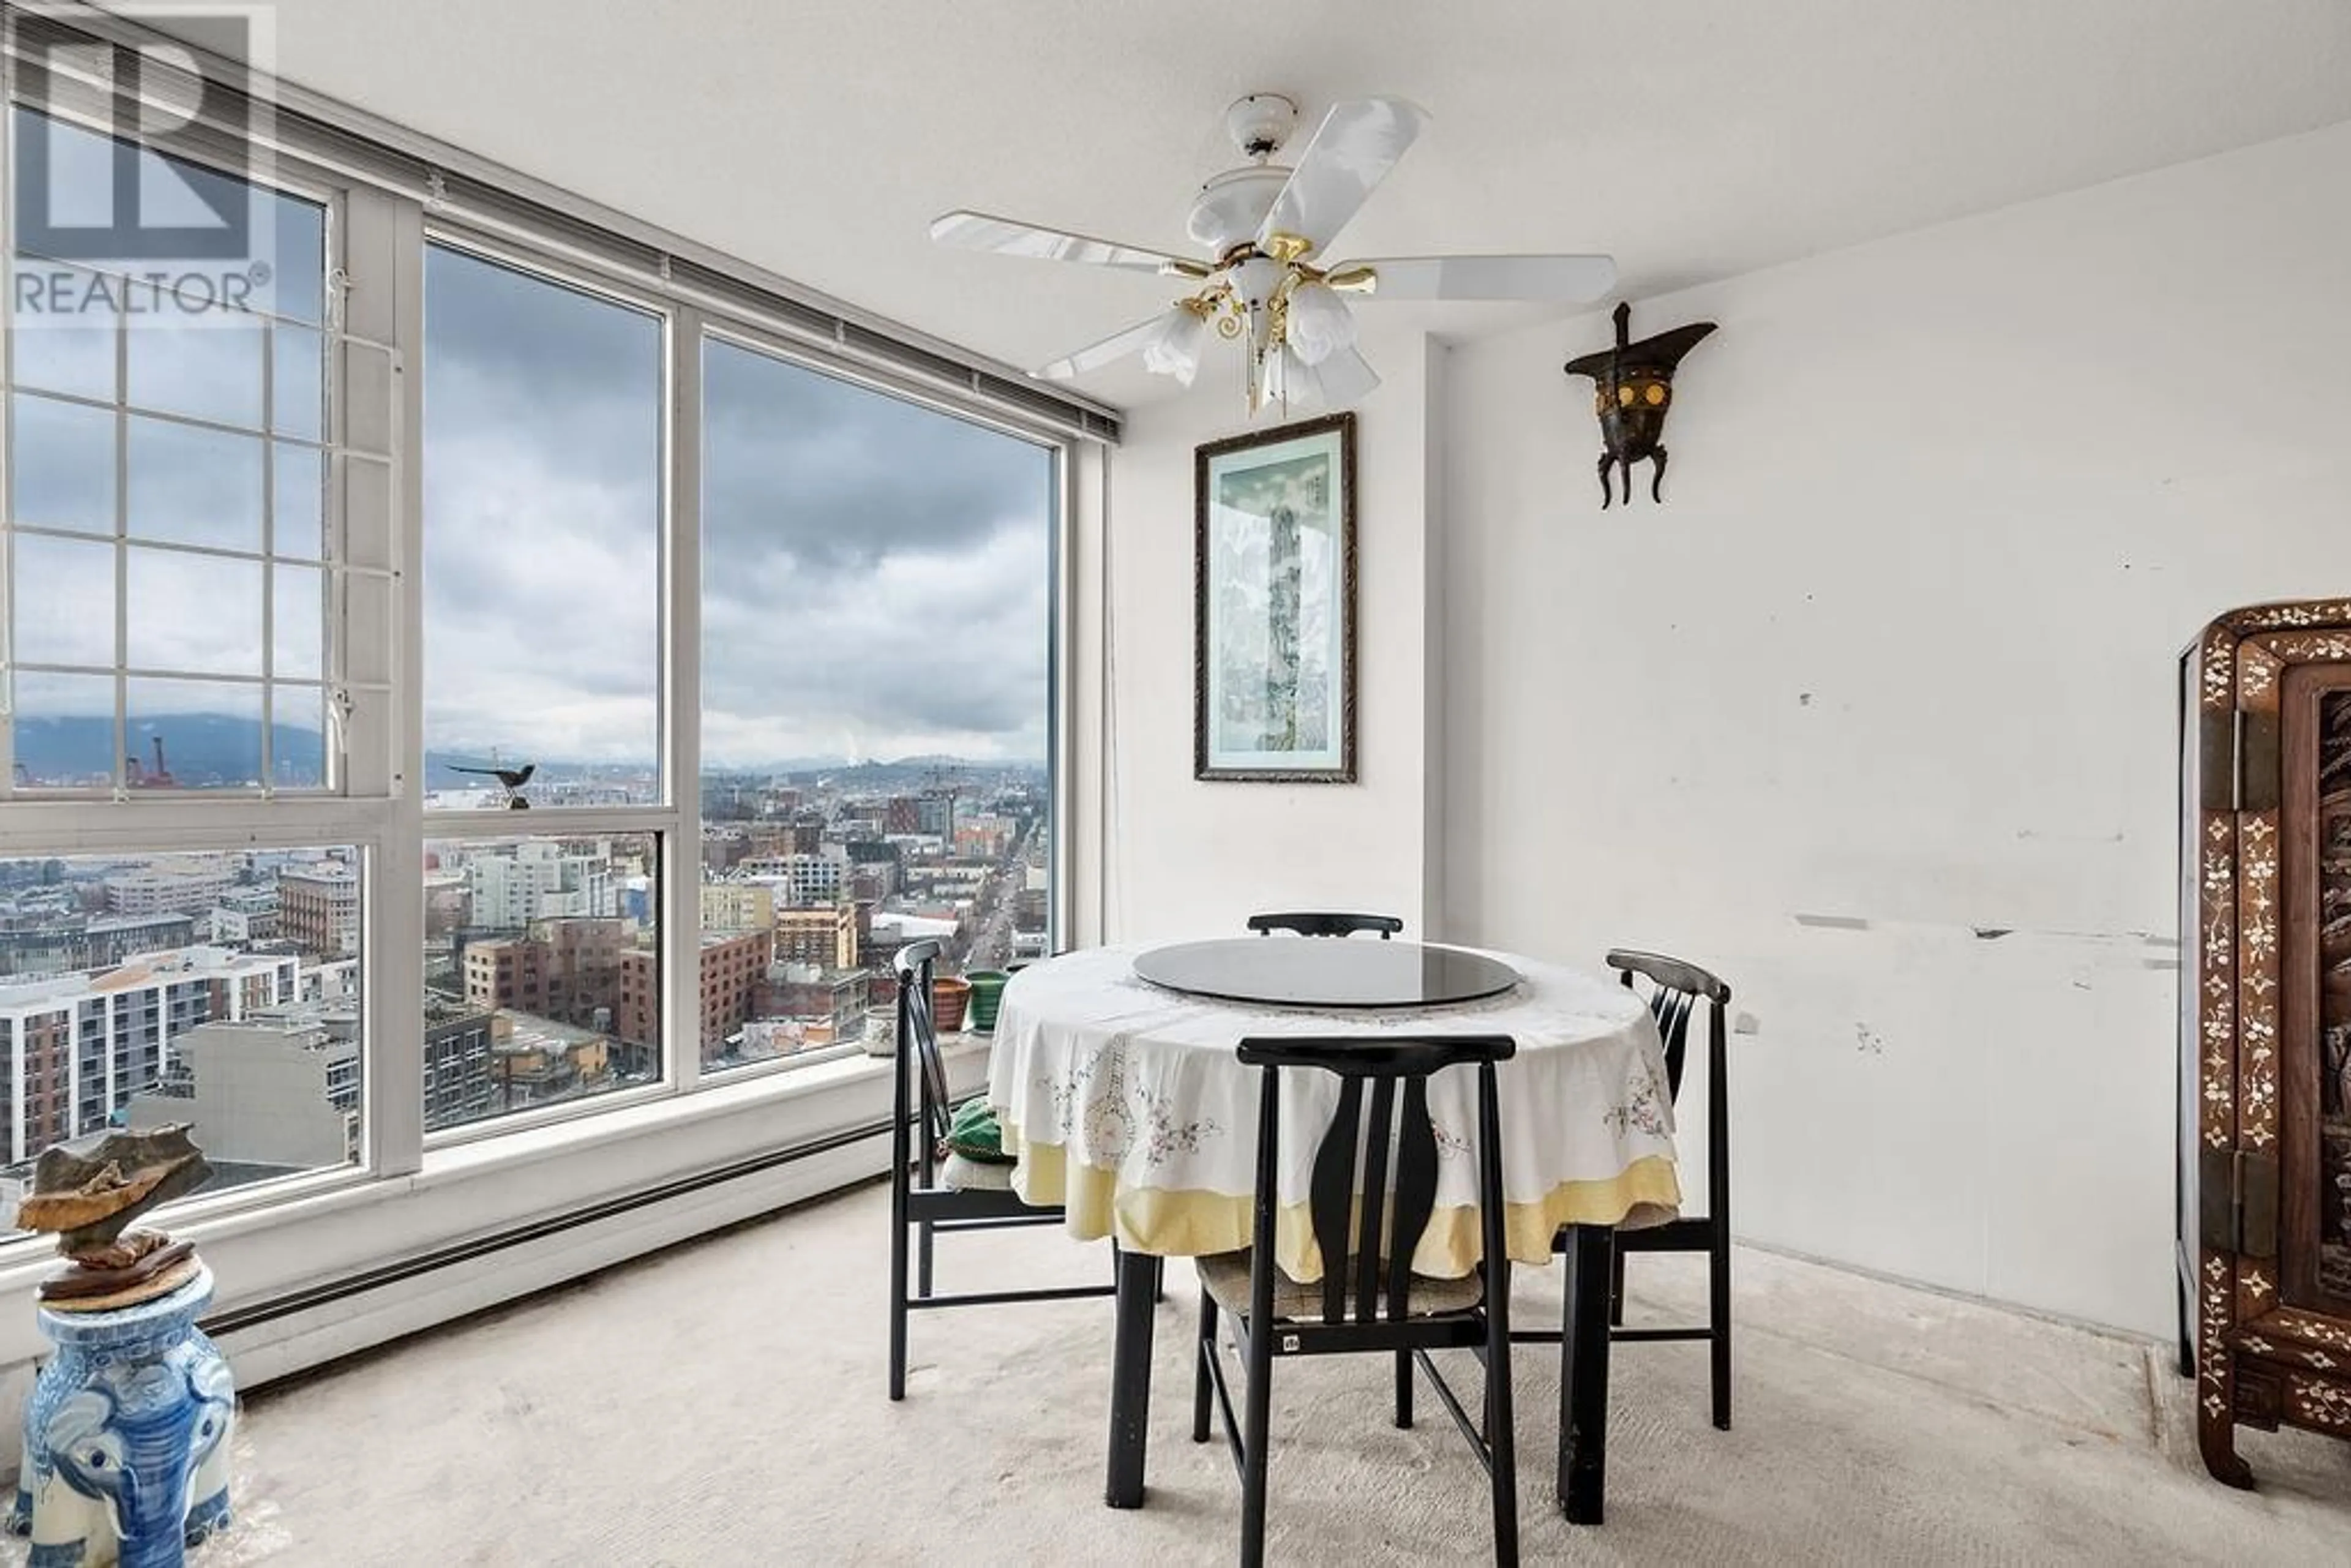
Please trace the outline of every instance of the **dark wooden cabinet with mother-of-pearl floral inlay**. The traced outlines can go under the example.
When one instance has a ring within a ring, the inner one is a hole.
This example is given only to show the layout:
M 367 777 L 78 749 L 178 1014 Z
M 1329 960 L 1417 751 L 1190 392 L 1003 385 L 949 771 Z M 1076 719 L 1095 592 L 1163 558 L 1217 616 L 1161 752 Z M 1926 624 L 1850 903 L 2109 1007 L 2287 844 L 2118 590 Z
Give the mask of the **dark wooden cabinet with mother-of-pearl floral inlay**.
M 2236 1427 L 2351 1439 L 2351 599 L 2182 656 L 2179 1359 Z

